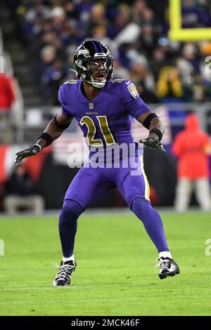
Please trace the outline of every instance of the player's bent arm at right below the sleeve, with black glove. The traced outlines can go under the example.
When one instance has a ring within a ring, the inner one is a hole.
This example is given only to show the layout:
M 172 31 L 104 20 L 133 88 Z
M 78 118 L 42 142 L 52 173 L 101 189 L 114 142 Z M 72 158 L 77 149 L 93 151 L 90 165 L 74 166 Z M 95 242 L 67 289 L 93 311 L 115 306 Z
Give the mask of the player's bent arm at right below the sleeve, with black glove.
M 144 138 L 139 142 L 146 145 L 146 147 L 165 151 L 160 143 L 165 129 L 159 117 L 154 112 L 145 112 L 137 120 L 149 130 L 148 138 Z

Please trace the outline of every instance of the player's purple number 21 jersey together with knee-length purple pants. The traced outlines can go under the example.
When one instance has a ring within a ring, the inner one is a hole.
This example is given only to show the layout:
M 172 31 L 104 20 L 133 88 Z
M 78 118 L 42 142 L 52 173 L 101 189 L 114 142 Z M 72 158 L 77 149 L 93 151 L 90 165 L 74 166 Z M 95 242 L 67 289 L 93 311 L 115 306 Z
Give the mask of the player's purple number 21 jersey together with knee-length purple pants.
M 131 133 L 131 116 L 138 119 L 151 110 L 139 97 L 134 84 L 120 79 L 109 81 L 93 100 L 84 96 L 81 87 L 81 80 L 66 81 L 60 86 L 59 101 L 63 115 L 75 117 L 82 129 L 90 148 L 90 159 L 96 150 L 105 153 L 122 143 L 134 146 L 136 157 L 142 154 L 142 147 L 139 145 L 138 148 Z M 86 209 L 113 187 L 119 188 L 129 207 L 137 197 L 149 199 L 148 181 L 141 159 L 135 166 L 127 167 L 122 165 L 122 159 L 124 157 L 120 157 L 117 168 L 93 168 L 85 164 L 72 180 L 65 199 L 72 199 Z M 132 175 L 134 169 L 139 170 L 138 175 Z

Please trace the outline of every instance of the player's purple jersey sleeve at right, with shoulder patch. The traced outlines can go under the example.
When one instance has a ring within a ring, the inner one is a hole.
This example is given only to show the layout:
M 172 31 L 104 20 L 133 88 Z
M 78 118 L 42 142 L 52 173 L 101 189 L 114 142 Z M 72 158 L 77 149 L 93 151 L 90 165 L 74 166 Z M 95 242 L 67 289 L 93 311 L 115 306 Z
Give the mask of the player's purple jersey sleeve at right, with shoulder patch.
M 124 81 L 124 100 L 127 108 L 127 112 L 132 117 L 138 119 L 141 114 L 145 112 L 151 112 L 151 109 L 140 98 L 136 86 L 131 81 Z

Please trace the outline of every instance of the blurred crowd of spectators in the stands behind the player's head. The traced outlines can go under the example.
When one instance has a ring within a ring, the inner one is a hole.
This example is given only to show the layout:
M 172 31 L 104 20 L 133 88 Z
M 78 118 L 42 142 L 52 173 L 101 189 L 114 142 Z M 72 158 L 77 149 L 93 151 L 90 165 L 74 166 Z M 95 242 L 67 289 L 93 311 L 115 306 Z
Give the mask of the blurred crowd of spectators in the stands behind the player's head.
M 210 25 L 210 1 L 182 4 L 184 27 Z M 115 78 L 131 79 L 147 103 L 210 100 L 211 42 L 170 41 L 168 0 L 18 0 L 14 12 L 45 104 L 57 105 L 60 84 L 76 78 L 69 69 L 84 39 L 110 48 Z

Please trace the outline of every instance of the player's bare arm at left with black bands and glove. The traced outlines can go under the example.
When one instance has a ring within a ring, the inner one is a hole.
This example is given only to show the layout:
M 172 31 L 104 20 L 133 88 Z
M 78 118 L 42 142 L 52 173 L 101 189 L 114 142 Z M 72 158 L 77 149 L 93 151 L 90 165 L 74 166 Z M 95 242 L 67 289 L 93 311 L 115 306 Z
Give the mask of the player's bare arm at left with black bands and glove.
M 44 147 L 51 145 L 68 128 L 71 121 L 72 117 L 66 117 L 60 111 L 55 118 L 49 121 L 49 124 L 46 126 L 44 132 L 41 133 L 41 136 L 39 136 L 36 144 L 16 154 L 15 163 L 18 165 L 24 158 L 34 156 L 34 154 L 37 154 Z

